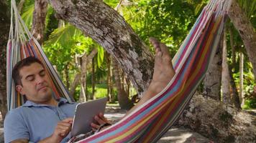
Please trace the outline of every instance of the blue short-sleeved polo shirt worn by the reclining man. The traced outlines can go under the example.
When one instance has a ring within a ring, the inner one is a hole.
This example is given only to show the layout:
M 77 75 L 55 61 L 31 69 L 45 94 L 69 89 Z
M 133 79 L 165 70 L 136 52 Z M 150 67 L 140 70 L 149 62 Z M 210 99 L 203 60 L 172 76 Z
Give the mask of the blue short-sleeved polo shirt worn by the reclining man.
M 4 142 L 16 139 L 28 139 L 29 142 L 39 142 L 50 137 L 58 122 L 73 117 L 77 103 L 68 103 L 60 98 L 57 107 L 46 104 L 35 104 L 27 101 L 22 107 L 12 109 L 4 119 Z M 68 134 L 62 142 L 68 142 Z

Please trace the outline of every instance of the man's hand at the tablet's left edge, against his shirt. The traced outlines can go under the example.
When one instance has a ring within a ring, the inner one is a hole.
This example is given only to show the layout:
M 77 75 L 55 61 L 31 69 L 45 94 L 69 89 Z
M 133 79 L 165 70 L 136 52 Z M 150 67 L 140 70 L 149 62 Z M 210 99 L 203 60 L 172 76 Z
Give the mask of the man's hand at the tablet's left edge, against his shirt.
M 63 121 L 58 122 L 52 136 L 50 136 L 52 142 L 61 142 L 70 132 L 72 123 L 73 118 L 63 119 Z

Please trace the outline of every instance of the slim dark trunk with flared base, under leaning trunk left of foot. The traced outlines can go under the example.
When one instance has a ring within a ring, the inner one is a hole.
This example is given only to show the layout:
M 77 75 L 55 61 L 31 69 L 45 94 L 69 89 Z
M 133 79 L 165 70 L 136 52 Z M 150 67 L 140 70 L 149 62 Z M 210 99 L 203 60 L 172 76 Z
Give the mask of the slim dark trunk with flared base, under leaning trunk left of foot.
M 128 98 L 129 95 L 123 89 L 119 66 L 115 60 L 113 61 L 113 74 L 115 79 L 119 106 L 121 107 L 121 109 L 131 109 L 133 107 L 133 104 L 132 101 Z

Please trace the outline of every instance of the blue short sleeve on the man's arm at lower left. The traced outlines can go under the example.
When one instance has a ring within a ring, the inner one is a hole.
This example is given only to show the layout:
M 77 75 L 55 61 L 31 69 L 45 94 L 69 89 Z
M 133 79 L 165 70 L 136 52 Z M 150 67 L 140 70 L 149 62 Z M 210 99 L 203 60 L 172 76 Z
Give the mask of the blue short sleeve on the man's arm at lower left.
M 19 112 L 9 112 L 4 119 L 4 142 L 16 139 L 29 140 L 29 130 Z

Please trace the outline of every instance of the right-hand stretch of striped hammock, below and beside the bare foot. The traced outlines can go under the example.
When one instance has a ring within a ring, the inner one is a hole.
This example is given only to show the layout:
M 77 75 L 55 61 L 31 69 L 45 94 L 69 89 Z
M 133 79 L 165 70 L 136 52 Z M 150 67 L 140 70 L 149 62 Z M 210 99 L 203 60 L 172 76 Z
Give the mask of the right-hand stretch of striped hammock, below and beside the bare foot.
M 178 119 L 204 79 L 231 1 L 210 1 L 173 58 L 175 77 L 147 103 L 113 126 L 79 142 L 157 142 Z

